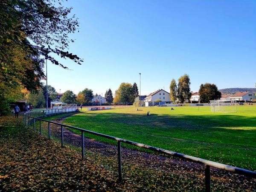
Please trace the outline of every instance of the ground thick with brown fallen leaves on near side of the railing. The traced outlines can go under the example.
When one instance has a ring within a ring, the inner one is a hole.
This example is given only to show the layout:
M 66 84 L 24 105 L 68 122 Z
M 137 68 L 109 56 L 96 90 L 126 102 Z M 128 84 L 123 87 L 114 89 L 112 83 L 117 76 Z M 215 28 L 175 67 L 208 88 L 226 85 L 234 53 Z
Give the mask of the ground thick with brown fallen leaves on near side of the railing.
M 70 148 L 17 125 L 0 130 L 0 191 L 119 191 L 140 188 L 117 183 L 115 172 L 81 160 Z

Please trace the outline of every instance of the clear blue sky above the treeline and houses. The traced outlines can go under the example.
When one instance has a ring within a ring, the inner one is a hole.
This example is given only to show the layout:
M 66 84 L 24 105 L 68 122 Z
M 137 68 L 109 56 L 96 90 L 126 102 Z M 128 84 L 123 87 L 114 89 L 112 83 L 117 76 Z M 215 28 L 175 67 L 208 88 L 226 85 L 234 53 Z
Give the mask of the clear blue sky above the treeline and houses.
M 254 87 L 255 0 L 69 0 L 79 18 L 70 52 L 82 65 L 70 70 L 48 62 L 48 84 L 59 92 L 85 87 L 103 95 L 122 82 L 141 94 L 163 89 L 184 73 L 191 90 L 202 83 L 221 88 Z M 62 60 L 61 60 L 62 61 Z

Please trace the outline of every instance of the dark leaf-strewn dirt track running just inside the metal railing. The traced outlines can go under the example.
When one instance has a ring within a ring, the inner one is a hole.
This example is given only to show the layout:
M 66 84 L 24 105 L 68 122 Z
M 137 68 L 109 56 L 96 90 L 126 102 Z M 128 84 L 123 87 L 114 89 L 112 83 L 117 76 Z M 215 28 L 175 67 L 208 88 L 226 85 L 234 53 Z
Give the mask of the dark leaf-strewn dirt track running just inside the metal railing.
M 73 114 L 64 116 L 61 119 L 55 119 L 55 122 L 61 123 L 63 119 L 72 115 Z M 60 138 L 61 129 L 59 126 L 52 125 L 51 132 L 54 137 Z M 64 128 L 64 143 L 81 147 L 81 135 L 75 134 Z M 115 145 L 101 143 L 85 137 L 85 149 L 86 151 L 101 154 L 106 157 L 116 158 L 117 161 L 117 146 Z M 191 163 L 189 161 L 173 157 L 164 157 L 157 154 L 122 147 L 122 162 L 166 171 L 170 174 L 185 175 L 190 179 L 204 179 L 204 165 Z M 212 183 L 217 185 L 224 184 L 235 191 L 239 189 L 242 189 L 241 191 L 244 191 L 245 189 L 248 189 L 249 191 L 256 191 L 256 179 L 252 179 L 250 177 L 211 168 L 211 179 Z

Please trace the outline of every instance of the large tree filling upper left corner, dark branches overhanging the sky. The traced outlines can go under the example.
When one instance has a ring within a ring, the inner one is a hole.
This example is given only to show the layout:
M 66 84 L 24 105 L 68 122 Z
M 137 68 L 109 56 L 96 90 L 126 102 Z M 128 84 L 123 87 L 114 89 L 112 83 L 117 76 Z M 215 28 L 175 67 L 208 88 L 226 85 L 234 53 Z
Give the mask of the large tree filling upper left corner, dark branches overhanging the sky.
M 33 93 L 42 87 L 41 56 L 64 68 L 54 55 L 81 64 L 77 55 L 67 51 L 74 42 L 68 34 L 79 27 L 70 12 L 71 8 L 61 6 L 61 0 L 0 1 L 0 113 L 18 99 L 9 93 L 23 88 Z

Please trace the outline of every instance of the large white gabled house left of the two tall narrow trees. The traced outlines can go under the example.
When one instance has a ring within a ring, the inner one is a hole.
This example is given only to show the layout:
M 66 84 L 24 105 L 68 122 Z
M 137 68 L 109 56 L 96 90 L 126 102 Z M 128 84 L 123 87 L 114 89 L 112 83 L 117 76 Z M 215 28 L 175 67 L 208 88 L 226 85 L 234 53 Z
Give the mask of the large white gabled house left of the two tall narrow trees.
M 154 106 L 154 103 L 157 102 L 159 105 L 164 105 L 166 103 L 171 103 L 170 93 L 163 89 L 159 89 L 153 93 L 150 93 L 145 97 L 145 106 Z

